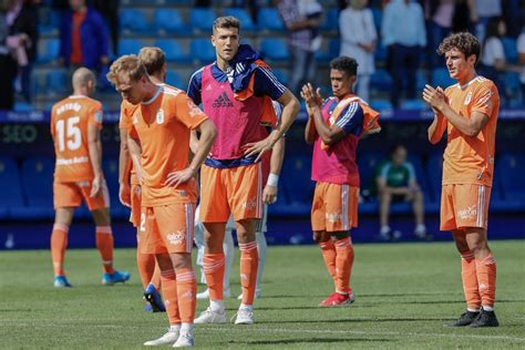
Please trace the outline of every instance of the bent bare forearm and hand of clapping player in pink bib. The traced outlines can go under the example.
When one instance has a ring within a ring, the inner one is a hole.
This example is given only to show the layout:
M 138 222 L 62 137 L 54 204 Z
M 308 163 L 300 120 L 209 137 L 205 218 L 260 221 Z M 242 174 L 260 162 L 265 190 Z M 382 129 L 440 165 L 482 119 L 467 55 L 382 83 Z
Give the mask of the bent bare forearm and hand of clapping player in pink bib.
M 311 111 L 312 120 L 319 137 L 321 137 L 325 144 L 333 145 L 339 140 L 343 138 L 347 133 L 338 125 L 329 127 L 327 124 L 325 124 L 321 115 L 321 106 L 318 103 L 318 95 L 319 90 L 316 92 L 310 83 L 302 86 L 301 96 L 305 99 L 308 109 Z

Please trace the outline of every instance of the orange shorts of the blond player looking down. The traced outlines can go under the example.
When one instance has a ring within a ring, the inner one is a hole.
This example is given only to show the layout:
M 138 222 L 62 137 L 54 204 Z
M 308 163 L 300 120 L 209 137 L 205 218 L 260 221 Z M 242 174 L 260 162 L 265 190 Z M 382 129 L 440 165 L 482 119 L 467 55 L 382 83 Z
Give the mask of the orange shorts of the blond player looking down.
M 194 222 L 194 203 L 142 207 L 141 253 L 192 253 Z

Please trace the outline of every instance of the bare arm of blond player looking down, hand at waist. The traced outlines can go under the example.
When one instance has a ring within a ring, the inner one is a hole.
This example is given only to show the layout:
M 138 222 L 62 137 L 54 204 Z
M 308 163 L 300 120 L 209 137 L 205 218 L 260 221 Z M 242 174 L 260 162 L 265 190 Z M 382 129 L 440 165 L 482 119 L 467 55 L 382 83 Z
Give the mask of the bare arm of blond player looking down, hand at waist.
M 189 163 L 189 166 L 179 172 L 173 172 L 166 176 L 166 186 L 177 187 L 197 175 L 198 168 L 203 165 L 204 159 L 212 150 L 215 138 L 217 137 L 217 128 L 210 120 L 204 121 L 199 126 L 200 137 L 198 138 L 197 150 L 195 156 Z

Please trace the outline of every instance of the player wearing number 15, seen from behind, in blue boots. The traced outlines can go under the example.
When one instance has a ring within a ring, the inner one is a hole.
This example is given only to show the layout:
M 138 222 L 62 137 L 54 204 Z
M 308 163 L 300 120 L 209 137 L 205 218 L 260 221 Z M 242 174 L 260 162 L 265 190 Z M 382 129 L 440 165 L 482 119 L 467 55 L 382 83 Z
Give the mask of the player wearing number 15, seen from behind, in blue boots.
M 95 75 L 85 68 L 73 73 L 73 95 L 55 103 L 51 111 L 51 135 L 56 163 L 53 202 L 55 218 L 51 233 L 54 287 L 71 287 L 64 272 L 68 233 L 74 209 L 85 202 L 95 222 L 96 248 L 104 266 L 102 284 L 130 279 L 130 274 L 113 268 L 113 233 L 110 198 L 102 172 L 102 104 L 90 97 Z

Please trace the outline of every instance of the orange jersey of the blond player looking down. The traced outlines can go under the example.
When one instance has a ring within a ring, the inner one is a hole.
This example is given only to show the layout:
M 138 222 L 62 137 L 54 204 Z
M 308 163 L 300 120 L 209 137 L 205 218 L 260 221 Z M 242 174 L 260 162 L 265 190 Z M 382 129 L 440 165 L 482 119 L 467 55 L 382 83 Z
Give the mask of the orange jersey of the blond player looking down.
M 142 206 L 195 203 L 195 179 L 178 187 L 165 186 L 169 173 L 189 165 L 189 133 L 208 117 L 182 90 L 159 86 L 155 95 L 133 113 L 130 136 L 142 146 Z

